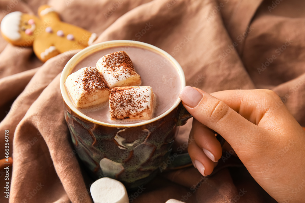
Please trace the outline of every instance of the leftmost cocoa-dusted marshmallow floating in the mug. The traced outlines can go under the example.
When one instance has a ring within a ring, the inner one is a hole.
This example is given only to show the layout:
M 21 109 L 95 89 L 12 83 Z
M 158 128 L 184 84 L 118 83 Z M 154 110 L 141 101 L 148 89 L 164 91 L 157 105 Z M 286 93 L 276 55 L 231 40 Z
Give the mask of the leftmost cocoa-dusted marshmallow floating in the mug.
M 108 100 L 110 89 L 95 67 L 85 67 L 66 79 L 66 87 L 75 106 L 89 107 Z

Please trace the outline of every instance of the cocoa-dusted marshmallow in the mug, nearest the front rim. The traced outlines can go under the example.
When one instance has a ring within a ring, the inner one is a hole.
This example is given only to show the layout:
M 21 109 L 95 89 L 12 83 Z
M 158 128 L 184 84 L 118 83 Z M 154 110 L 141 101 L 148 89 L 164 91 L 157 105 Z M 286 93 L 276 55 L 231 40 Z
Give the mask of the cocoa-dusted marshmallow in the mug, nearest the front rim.
M 110 117 L 114 119 L 150 119 L 154 94 L 150 86 L 114 87 L 109 97 Z

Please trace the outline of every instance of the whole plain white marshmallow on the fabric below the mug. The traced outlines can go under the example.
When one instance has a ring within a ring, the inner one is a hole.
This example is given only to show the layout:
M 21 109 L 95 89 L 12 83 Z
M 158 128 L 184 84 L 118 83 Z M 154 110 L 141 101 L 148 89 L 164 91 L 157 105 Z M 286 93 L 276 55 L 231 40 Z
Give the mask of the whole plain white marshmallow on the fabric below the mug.
M 100 178 L 90 187 L 94 203 L 129 203 L 124 185 L 111 178 Z

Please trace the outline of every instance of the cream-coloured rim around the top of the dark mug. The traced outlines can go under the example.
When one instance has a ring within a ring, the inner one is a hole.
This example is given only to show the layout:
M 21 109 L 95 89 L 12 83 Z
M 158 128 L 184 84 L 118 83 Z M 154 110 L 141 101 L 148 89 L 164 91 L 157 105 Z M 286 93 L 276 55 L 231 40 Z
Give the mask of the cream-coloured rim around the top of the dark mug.
M 75 67 L 75 65 L 77 65 L 78 62 L 80 62 L 81 60 L 83 60 L 84 58 L 89 56 L 90 54 L 92 54 L 96 51 L 100 51 L 102 49 L 106 49 L 106 48 L 110 48 L 110 47 L 116 47 L 116 46 L 141 47 L 141 48 L 148 49 L 150 51 L 154 51 L 155 53 L 161 54 L 164 58 L 169 60 L 169 62 L 171 62 L 174 65 L 174 67 L 177 69 L 178 74 L 180 76 L 180 80 L 181 80 L 181 90 L 185 87 L 185 75 L 184 75 L 184 72 L 183 72 L 180 64 L 170 54 L 168 54 L 166 51 L 163 51 L 162 49 L 160 49 L 156 46 L 153 46 L 151 44 L 147 44 L 147 43 L 144 43 L 144 42 L 138 42 L 138 41 L 132 41 L 132 40 L 112 40 L 112 41 L 101 42 L 101 43 L 94 44 L 94 45 L 91 45 L 89 47 L 86 47 L 83 50 L 81 50 L 80 52 L 78 52 L 77 54 L 75 54 L 67 62 L 67 64 L 63 68 L 63 71 L 62 71 L 61 76 L 60 76 L 60 92 L 61 92 L 61 95 L 62 95 L 63 100 L 66 103 L 66 105 L 68 105 L 68 107 L 75 114 L 77 114 L 78 116 L 80 116 L 80 117 L 82 117 L 82 118 L 84 118 L 84 119 L 86 119 L 86 120 L 88 120 L 92 123 L 103 125 L 103 126 L 115 127 L 115 128 L 128 128 L 128 127 L 136 127 L 136 126 L 149 124 L 149 123 L 152 123 L 154 121 L 159 120 L 160 118 L 166 116 L 172 110 L 174 110 L 179 105 L 179 103 L 181 102 L 179 97 L 177 98 L 177 100 L 174 102 L 174 104 L 167 111 L 165 111 L 163 114 L 161 114 L 157 117 L 154 117 L 150 120 L 142 121 L 142 122 L 138 122 L 138 123 L 133 123 L 133 124 L 111 124 L 111 123 L 105 123 L 105 122 L 101 122 L 101 121 L 97 121 L 95 119 L 92 119 L 92 118 L 86 116 L 85 114 L 81 113 L 74 106 L 73 102 L 70 100 L 70 98 L 68 96 L 68 92 L 66 91 L 66 88 L 65 88 L 65 85 L 64 85 L 64 83 L 65 83 L 67 77 L 70 75 L 72 69 Z

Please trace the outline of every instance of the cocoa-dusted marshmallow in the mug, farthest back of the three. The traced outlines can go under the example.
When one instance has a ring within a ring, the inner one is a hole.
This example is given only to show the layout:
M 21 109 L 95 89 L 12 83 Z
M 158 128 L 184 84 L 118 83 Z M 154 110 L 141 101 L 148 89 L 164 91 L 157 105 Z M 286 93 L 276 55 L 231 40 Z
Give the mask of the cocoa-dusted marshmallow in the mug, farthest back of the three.
M 120 86 L 141 85 L 141 77 L 135 72 L 134 66 L 125 51 L 107 54 L 96 63 L 99 72 L 110 89 Z

